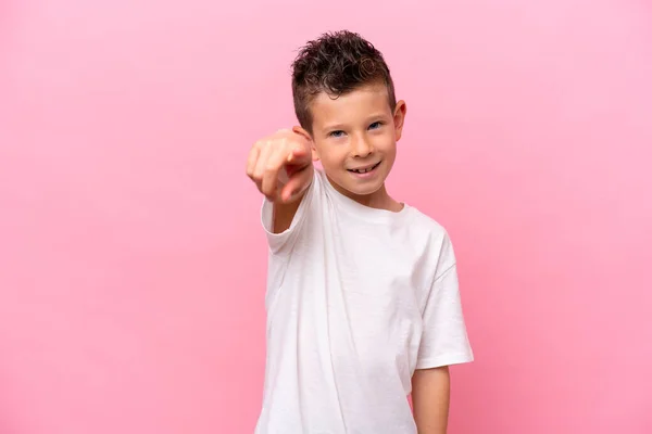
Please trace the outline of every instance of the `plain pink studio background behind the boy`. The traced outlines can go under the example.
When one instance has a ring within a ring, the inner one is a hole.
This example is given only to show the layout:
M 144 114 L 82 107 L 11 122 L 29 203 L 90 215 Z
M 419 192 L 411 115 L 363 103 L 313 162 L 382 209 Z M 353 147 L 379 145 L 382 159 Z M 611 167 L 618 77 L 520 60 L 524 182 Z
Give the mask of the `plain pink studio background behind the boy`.
M 0 2 L 1 434 L 252 432 L 244 158 L 339 28 L 408 102 L 392 193 L 456 245 L 450 433 L 652 432 L 652 5 L 428 3 Z

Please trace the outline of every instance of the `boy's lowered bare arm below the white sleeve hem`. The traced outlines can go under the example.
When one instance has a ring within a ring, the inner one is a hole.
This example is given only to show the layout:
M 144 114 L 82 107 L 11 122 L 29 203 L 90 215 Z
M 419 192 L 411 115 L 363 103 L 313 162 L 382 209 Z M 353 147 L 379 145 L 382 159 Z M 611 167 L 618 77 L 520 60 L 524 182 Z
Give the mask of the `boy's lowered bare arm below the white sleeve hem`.
M 417 369 L 412 375 L 412 407 L 418 434 L 446 434 L 450 405 L 448 367 Z

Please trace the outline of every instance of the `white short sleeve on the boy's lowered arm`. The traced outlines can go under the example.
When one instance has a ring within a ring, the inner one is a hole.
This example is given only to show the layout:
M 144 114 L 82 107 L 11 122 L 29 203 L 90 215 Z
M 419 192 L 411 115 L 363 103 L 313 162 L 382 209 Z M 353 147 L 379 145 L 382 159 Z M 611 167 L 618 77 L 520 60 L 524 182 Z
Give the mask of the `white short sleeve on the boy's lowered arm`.
M 449 260 L 453 255 L 450 250 Z M 416 369 L 473 361 L 454 261 L 434 280 L 422 315 L 424 328 Z

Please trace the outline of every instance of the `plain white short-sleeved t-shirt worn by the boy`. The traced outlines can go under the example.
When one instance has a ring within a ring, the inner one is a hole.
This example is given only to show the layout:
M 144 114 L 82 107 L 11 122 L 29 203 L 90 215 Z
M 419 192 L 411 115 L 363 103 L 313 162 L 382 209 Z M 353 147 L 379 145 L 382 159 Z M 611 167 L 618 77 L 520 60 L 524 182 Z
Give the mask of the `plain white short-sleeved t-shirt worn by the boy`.
M 267 360 L 256 434 L 415 434 L 415 369 L 473 360 L 444 229 L 414 207 L 371 208 L 322 170 L 272 232 Z

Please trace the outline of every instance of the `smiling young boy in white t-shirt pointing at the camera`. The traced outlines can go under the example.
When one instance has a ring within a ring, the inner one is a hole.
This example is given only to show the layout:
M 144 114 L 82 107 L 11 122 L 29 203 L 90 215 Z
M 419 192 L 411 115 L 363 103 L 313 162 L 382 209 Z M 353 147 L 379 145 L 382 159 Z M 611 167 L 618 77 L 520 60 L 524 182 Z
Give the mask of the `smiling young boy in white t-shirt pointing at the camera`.
M 269 246 L 255 433 L 446 433 L 448 366 L 473 353 L 446 230 L 385 188 L 405 102 L 353 33 L 309 42 L 292 66 L 300 126 L 247 163 Z

